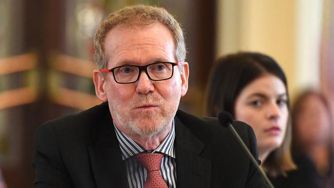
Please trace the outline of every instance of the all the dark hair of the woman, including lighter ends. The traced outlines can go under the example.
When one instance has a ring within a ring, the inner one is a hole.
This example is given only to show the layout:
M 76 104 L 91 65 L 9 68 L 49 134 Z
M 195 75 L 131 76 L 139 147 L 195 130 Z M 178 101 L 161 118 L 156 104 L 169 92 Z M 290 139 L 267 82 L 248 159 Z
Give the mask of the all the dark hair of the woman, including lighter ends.
M 255 79 L 267 74 L 273 74 L 284 83 L 289 99 L 285 74 L 279 64 L 268 55 L 238 52 L 219 58 L 211 71 L 208 84 L 207 115 L 217 117 L 224 110 L 234 117 L 235 101 L 240 92 Z M 289 101 L 287 105 L 289 109 Z M 286 175 L 286 171 L 296 168 L 291 157 L 290 121 L 282 145 L 269 154 L 262 166 L 271 176 Z

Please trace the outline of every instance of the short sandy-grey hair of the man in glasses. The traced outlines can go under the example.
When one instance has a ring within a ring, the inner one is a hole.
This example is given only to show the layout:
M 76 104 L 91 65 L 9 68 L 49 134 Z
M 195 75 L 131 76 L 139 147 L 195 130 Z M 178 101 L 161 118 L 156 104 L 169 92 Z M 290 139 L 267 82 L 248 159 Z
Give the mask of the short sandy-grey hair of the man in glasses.
M 177 61 L 184 61 L 187 53 L 185 49 L 184 34 L 180 24 L 175 20 L 173 15 L 161 7 L 134 5 L 110 13 L 105 20 L 100 23 L 94 37 L 94 60 L 98 68 L 107 68 L 104 40 L 111 29 L 119 25 L 132 27 L 153 23 L 161 23 L 172 32 L 175 45 L 175 58 Z

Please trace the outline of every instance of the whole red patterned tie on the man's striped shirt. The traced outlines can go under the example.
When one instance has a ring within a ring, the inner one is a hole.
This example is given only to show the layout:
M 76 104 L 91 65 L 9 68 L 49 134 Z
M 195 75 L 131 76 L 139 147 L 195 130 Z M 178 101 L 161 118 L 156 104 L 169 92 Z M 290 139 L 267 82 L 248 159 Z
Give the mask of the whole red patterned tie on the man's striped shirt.
M 147 171 L 144 188 L 168 188 L 160 174 L 162 157 L 163 155 L 158 153 L 139 153 L 135 156 L 135 159 L 144 166 Z

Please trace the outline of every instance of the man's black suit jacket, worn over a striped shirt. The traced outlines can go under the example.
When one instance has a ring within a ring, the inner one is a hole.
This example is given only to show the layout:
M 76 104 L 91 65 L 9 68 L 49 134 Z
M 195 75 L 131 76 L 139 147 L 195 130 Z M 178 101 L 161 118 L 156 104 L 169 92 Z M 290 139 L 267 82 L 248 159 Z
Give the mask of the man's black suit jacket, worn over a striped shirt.
M 257 158 L 252 128 L 233 124 Z M 267 187 L 229 128 L 216 118 L 178 110 L 175 133 L 177 187 Z M 107 103 L 43 124 L 34 148 L 35 187 L 127 187 Z

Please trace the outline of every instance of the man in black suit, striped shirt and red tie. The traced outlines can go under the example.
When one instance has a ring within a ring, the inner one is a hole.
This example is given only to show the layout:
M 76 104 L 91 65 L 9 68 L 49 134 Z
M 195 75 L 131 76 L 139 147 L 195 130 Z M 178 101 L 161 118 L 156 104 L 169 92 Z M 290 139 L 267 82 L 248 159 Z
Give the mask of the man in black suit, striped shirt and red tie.
M 103 103 L 36 131 L 35 187 L 267 187 L 228 128 L 178 110 L 189 65 L 171 14 L 125 7 L 94 42 Z M 253 130 L 234 125 L 257 158 Z

